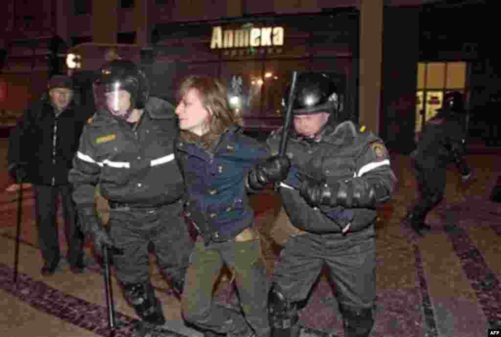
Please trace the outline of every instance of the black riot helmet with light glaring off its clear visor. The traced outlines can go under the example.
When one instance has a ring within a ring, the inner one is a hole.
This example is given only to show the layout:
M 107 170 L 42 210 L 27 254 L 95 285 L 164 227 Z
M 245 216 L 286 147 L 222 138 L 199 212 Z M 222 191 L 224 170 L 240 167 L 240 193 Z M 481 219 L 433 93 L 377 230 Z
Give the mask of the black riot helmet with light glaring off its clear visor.
M 115 104 L 106 104 L 106 108 L 117 118 L 127 119 L 133 109 L 144 108 L 149 96 L 149 85 L 146 75 L 132 61 L 115 59 L 106 62 L 100 68 L 98 78 L 94 81 L 96 104 L 105 103 L 106 99 L 115 95 Z M 130 104 L 124 114 L 116 114 L 119 109 L 119 92 L 125 90 L 130 94 Z M 106 97 L 105 97 L 106 96 Z

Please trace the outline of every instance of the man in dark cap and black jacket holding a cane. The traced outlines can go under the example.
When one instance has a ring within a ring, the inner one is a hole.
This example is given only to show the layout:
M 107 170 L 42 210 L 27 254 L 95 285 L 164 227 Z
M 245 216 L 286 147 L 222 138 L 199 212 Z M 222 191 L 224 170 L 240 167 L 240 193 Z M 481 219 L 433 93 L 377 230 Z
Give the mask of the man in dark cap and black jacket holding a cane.
M 68 171 L 87 117 L 75 102 L 72 79 L 55 75 L 49 80 L 48 92 L 25 111 L 10 138 L 9 172 L 13 177 L 28 177 L 35 187 L 39 244 L 45 261 L 43 275 L 53 274 L 61 259 L 56 220 L 59 195 L 68 262 L 75 273 L 85 268 L 83 235 L 77 225 Z

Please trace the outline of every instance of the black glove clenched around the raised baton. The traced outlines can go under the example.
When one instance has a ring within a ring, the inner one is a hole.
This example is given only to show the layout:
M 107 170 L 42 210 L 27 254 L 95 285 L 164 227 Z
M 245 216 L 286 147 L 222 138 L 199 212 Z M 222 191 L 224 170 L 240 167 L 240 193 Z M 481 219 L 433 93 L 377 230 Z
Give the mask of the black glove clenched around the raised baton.
M 264 188 L 270 182 L 284 180 L 290 168 L 291 160 L 287 156 L 271 156 L 249 172 L 248 184 L 253 189 Z

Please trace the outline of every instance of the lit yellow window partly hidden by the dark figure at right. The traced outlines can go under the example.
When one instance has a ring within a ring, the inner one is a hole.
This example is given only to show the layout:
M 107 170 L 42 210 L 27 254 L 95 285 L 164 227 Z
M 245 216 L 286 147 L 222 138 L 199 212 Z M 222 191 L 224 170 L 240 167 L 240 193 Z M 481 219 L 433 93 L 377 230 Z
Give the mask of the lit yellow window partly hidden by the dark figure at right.
M 466 62 L 419 62 L 417 64 L 416 132 L 442 106 L 448 91 L 467 92 Z

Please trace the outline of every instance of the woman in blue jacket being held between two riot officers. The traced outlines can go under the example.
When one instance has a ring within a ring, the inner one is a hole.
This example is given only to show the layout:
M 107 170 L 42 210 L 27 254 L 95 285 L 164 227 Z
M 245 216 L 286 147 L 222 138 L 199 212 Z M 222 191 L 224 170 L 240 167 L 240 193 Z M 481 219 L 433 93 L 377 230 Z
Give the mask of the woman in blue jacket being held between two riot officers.
M 182 295 L 184 318 L 206 335 L 269 337 L 269 282 L 247 192 L 284 179 L 290 161 L 270 156 L 266 144 L 242 134 L 217 79 L 190 76 L 179 97 L 175 154 L 184 175 L 185 214 L 197 231 Z M 243 314 L 213 303 L 223 265 L 234 272 Z

